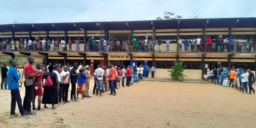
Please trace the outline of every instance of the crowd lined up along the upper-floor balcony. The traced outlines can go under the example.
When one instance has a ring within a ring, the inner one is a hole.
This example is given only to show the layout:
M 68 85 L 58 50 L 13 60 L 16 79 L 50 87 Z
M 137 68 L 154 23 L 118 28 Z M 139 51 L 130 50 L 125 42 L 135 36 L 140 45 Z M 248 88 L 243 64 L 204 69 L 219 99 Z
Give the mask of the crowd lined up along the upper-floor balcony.
M 198 38 L 192 38 L 192 39 L 179 39 L 177 41 L 178 43 L 178 51 L 181 52 L 182 46 L 184 46 L 185 52 L 256 52 L 256 39 L 238 39 L 233 37 L 231 38 L 218 38 L 215 42 L 213 43 L 212 38 L 201 38 L 198 36 Z M 73 41 L 75 43 L 75 51 L 80 50 L 80 44 L 78 40 Z M 149 45 L 148 45 L 149 43 Z M 161 44 L 166 43 L 166 52 L 170 51 L 170 43 L 171 40 L 167 38 L 164 41 L 159 38 L 159 40 L 155 39 L 152 41 L 152 39 L 144 39 L 140 38 L 138 41 L 138 48 L 136 50 L 134 43 L 132 40 L 119 40 L 115 39 L 114 41 L 112 40 L 106 40 L 102 39 L 102 41 L 96 41 L 91 38 L 89 38 L 88 41 L 86 41 L 86 51 L 138 51 L 138 52 L 156 52 L 159 51 L 161 52 Z M 30 50 L 30 51 L 35 51 L 35 50 L 59 50 L 59 45 L 62 45 L 63 51 L 67 51 L 67 47 L 69 46 L 69 51 L 72 50 L 72 41 L 69 38 L 68 43 L 65 42 L 65 40 L 61 39 L 60 44 L 57 39 L 50 41 L 46 41 L 45 38 L 43 38 L 41 41 L 38 40 L 38 38 L 35 38 L 35 41 L 32 41 L 29 39 L 28 41 L 26 39 L 21 39 L 21 41 L 17 40 L 12 40 L 9 41 L 8 39 L 6 41 L 1 42 L 0 49 L 1 50 Z M 176 48 L 174 48 L 176 49 Z

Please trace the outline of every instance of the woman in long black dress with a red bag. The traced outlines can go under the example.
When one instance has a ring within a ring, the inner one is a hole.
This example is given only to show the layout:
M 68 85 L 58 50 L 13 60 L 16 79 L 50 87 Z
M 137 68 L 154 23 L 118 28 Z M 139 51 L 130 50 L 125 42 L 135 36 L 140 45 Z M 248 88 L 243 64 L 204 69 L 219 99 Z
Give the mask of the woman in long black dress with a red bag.
M 54 69 L 53 65 L 50 65 L 48 67 L 49 72 L 43 74 L 43 79 L 46 80 L 49 75 L 50 79 L 53 81 L 53 85 L 50 87 L 43 85 L 43 87 L 44 87 L 43 100 L 42 100 L 42 103 L 44 104 L 43 108 L 48 108 L 48 107 L 46 107 L 46 104 L 51 104 L 52 109 L 55 109 L 56 107 L 54 107 L 54 105 L 58 104 L 58 95 L 57 95 L 57 90 L 59 90 L 58 77 L 57 77 L 56 73 L 53 73 L 53 69 Z

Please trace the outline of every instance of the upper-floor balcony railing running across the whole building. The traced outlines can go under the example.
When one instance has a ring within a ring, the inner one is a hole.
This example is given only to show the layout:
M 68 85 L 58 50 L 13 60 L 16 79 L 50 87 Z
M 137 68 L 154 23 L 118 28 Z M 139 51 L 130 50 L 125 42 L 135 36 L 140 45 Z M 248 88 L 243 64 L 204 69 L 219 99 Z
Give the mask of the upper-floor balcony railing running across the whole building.
M 141 49 L 140 49 L 141 48 Z M 99 51 L 99 52 L 234 52 L 234 53 L 256 53 L 256 42 L 242 42 L 242 43 L 201 43 L 200 45 L 188 45 L 181 43 L 162 43 L 161 45 L 152 44 L 147 46 L 104 46 L 99 44 L 89 45 L 84 43 L 71 45 L 67 44 L 65 47 L 59 44 L 55 46 L 50 45 L 21 45 L 0 43 L 0 51 Z

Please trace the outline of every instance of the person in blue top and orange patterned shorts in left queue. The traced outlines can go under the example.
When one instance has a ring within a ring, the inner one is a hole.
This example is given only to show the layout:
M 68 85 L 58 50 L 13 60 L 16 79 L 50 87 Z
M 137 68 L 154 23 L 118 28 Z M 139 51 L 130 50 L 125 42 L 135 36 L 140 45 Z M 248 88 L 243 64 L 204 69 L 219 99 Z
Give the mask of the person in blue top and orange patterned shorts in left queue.
M 77 91 L 77 97 L 79 94 L 82 95 L 82 99 L 84 99 L 83 95 L 85 95 L 85 73 L 82 73 L 82 68 L 79 70 L 79 77 L 78 77 L 78 91 Z

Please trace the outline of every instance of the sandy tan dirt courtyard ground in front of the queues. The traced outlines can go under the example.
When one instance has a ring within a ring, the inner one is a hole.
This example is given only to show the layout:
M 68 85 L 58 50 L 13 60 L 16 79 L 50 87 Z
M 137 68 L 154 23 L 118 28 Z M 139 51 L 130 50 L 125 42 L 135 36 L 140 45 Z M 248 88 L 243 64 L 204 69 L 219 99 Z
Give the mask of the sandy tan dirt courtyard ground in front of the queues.
M 109 92 L 95 97 L 93 85 L 91 80 L 92 98 L 37 112 L 28 119 L 9 117 L 10 91 L 0 90 L 0 127 L 256 127 L 256 95 L 229 87 L 142 81 L 118 89 L 115 97 Z M 24 87 L 20 90 L 23 98 Z

